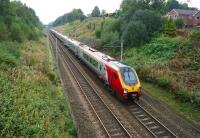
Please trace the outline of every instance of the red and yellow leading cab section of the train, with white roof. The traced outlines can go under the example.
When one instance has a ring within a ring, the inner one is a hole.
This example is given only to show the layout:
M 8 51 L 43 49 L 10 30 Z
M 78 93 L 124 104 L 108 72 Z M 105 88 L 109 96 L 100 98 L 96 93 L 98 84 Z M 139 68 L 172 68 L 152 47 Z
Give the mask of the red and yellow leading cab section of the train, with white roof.
M 106 65 L 108 84 L 123 99 L 139 99 L 142 95 L 140 80 L 136 71 L 120 62 Z

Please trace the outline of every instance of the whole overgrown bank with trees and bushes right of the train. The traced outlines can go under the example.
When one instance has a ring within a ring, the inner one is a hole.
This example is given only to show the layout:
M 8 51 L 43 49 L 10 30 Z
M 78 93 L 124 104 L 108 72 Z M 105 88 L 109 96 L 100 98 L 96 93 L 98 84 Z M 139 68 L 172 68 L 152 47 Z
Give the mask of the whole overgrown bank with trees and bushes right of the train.
M 120 57 L 118 48 L 105 49 L 102 46 L 119 46 L 123 38 L 124 62 L 134 67 L 143 81 L 167 90 L 167 95 L 176 104 L 170 106 L 199 123 L 199 118 L 190 117 L 189 112 L 196 115 L 200 106 L 200 31 L 182 29 L 178 30 L 178 34 L 177 28 L 183 25 L 181 20 L 161 18 L 172 7 L 188 8 L 185 4 L 176 3 L 175 0 L 167 3 L 162 0 L 124 0 L 119 16 L 90 17 L 83 22 L 75 21 L 58 27 L 57 30 L 96 46 L 117 59 Z M 152 93 L 159 96 L 160 91 Z M 183 106 L 186 108 L 183 109 Z

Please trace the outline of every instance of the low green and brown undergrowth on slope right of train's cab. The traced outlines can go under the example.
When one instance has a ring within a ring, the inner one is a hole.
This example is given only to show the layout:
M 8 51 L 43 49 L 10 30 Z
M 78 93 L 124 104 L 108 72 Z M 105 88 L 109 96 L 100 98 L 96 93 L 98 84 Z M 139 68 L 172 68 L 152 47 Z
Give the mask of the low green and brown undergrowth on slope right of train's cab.
M 200 48 L 181 38 L 160 37 L 149 44 L 128 49 L 126 63 L 140 78 L 171 91 L 176 99 L 200 105 Z

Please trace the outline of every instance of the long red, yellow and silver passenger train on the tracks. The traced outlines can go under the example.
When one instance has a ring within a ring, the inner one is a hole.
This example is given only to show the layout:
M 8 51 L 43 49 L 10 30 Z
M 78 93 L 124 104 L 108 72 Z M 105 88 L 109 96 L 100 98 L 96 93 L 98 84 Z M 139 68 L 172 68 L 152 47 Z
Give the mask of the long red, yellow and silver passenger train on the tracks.
M 141 83 L 135 69 L 55 30 L 50 30 L 50 33 L 83 61 L 122 100 L 139 100 L 142 96 Z

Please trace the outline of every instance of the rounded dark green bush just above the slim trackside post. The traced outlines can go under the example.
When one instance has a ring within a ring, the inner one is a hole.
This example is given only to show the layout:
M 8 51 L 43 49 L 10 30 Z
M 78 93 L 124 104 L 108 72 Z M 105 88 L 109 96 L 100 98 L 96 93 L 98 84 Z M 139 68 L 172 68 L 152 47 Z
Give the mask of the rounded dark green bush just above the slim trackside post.
M 147 40 L 146 27 L 142 22 L 130 22 L 123 32 L 124 43 L 127 46 L 137 46 Z

